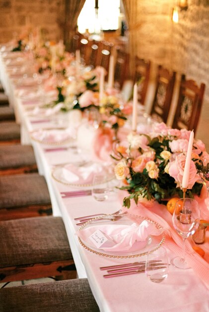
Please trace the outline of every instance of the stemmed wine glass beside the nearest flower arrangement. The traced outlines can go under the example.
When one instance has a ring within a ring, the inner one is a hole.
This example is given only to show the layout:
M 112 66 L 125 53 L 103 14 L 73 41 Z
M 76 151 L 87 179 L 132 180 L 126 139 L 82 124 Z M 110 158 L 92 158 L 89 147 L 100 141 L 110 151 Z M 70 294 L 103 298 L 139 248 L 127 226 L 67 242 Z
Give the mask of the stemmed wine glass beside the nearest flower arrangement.
M 173 226 L 183 238 L 182 257 L 175 257 L 171 263 L 180 269 L 189 269 L 185 260 L 185 241 L 195 233 L 200 223 L 200 210 L 196 199 L 182 198 L 176 202 L 173 213 Z

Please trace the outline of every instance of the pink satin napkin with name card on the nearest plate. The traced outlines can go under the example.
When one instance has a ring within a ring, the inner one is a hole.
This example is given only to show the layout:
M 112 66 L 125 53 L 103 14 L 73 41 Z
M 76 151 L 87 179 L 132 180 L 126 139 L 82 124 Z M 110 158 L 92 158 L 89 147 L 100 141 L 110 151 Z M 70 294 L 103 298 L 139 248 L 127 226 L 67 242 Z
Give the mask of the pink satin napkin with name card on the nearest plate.
M 93 225 L 77 232 L 76 234 L 83 241 L 89 241 L 92 246 L 93 243 L 91 242 L 89 237 L 98 230 L 105 234 L 109 242 L 114 243 L 111 247 L 100 247 L 100 249 L 108 252 L 134 252 L 140 250 L 147 245 L 147 239 L 149 235 L 158 236 L 163 231 L 163 229 L 157 229 L 153 223 L 144 220 L 140 224 L 133 223 L 131 225 Z

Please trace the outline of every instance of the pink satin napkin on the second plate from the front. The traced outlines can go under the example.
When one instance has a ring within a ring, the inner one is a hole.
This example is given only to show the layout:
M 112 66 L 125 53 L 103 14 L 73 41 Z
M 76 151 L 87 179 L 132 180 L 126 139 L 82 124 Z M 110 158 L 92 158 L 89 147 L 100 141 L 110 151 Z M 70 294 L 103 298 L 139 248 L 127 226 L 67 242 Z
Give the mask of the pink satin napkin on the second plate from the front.
M 98 163 L 82 167 L 70 163 L 62 168 L 63 177 L 70 183 L 92 183 L 94 174 L 102 172 L 103 167 Z

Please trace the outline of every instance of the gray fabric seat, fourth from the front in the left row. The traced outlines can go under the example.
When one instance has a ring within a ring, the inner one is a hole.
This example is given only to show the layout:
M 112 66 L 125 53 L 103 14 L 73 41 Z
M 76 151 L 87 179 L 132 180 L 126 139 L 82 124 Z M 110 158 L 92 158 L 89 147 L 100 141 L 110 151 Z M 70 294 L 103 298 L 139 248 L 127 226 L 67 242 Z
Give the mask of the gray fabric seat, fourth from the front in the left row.
M 0 170 L 36 164 L 33 148 L 26 145 L 0 146 Z

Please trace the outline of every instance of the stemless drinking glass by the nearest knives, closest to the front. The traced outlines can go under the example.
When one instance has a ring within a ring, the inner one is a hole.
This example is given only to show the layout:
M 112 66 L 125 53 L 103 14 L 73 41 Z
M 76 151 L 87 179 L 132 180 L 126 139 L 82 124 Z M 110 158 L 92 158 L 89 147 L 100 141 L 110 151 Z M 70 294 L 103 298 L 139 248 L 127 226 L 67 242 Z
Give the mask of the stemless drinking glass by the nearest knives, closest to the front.
M 169 264 L 165 248 L 160 247 L 153 252 L 147 253 L 145 274 L 150 281 L 154 283 L 162 282 L 167 278 L 168 271 Z

